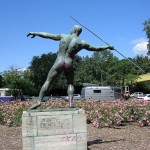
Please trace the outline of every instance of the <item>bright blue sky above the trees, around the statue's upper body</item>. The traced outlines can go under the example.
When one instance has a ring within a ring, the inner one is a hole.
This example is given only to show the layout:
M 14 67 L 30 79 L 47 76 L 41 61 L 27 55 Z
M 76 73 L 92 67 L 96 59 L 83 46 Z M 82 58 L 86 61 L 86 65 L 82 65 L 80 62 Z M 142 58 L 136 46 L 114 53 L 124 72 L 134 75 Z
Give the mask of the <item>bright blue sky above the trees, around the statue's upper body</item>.
M 70 34 L 77 23 L 69 16 L 114 46 L 125 57 L 146 55 L 147 36 L 144 21 L 150 18 L 150 0 L 1 0 L 0 72 L 11 66 L 25 69 L 34 56 L 56 53 L 59 41 L 29 32 Z M 106 46 L 83 28 L 80 38 L 93 46 Z M 92 56 L 82 50 L 79 56 Z M 116 51 L 113 54 L 123 59 Z

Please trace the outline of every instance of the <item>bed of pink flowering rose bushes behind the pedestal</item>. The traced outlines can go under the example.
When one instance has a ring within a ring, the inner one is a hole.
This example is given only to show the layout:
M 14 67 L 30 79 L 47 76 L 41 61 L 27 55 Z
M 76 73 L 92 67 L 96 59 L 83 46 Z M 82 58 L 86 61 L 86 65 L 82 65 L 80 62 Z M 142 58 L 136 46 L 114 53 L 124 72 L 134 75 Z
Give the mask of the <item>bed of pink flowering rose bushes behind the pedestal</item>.
M 148 101 L 75 101 L 78 108 L 85 110 L 87 123 L 95 127 L 121 126 L 136 122 L 139 126 L 150 126 L 150 102 Z M 33 106 L 33 101 L 0 103 L 0 123 L 7 126 L 21 126 L 22 112 Z M 64 100 L 42 102 L 39 109 L 66 108 Z

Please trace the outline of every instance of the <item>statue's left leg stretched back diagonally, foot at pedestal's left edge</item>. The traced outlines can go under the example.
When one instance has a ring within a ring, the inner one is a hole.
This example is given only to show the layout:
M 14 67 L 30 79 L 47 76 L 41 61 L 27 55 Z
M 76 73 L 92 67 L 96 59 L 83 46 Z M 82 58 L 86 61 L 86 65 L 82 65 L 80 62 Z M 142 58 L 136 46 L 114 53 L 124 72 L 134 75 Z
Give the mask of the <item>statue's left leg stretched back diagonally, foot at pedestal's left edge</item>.
M 46 93 L 46 91 L 48 90 L 51 82 L 53 81 L 53 79 L 58 75 L 58 71 L 56 70 L 56 65 L 54 64 L 54 66 L 51 68 L 51 70 L 49 71 L 48 75 L 47 75 L 47 79 L 45 81 L 45 83 L 43 84 L 40 93 L 39 93 L 39 98 L 36 101 L 36 103 L 34 104 L 34 106 L 32 106 L 30 109 L 36 109 L 39 106 L 41 106 L 41 101 Z

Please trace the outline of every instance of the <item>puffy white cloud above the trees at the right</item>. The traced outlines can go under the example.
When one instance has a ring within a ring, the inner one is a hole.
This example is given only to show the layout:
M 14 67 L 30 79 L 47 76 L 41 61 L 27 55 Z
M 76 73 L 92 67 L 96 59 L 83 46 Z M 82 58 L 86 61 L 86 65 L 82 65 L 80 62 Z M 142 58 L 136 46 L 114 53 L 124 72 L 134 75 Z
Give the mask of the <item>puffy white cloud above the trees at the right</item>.
M 133 52 L 138 55 L 147 55 L 147 40 L 144 38 L 136 39 L 131 42 L 133 44 Z

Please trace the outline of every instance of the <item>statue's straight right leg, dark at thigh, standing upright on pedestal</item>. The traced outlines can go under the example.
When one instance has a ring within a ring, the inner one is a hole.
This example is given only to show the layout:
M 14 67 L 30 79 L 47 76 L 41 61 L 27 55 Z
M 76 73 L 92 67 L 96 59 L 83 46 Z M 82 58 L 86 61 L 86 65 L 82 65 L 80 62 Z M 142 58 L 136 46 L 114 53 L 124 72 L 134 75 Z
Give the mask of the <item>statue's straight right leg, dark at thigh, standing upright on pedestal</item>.
M 68 71 L 65 71 L 65 76 L 67 79 L 67 83 L 68 83 L 68 98 L 69 98 L 69 106 L 70 107 L 74 107 L 73 104 L 73 94 L 74 94 L 74 86 L 73 86 L 73 79 L 74 79 L 74 74 L 73 74 L 73 68 L 71 68 Z

